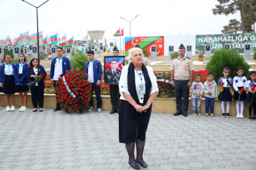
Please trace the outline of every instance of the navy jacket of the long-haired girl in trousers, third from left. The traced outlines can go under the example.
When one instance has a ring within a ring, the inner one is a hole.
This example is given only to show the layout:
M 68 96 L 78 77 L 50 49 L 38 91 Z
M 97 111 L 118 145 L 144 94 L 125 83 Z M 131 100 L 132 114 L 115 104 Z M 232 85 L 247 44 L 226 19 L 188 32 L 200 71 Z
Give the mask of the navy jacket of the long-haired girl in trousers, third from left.
M 41 73 L 44 73 L 44 75 L 46 77 L 47 73 L 44 70 L 44 67 L 42 67 L 42 66 L 38 67 L 38 75 L 40 75 Z M 29 82 L 35 81 L 35 78 L 30 78 L 30 75 L 35 75 L 35 71 L 33 71 L 33 68 L 32 69 L 29 69 L 29 68 L 27 69 L 26 78 L 29 79 Z M 44 88 L 44 87 L 45 87 L 44 80 L 40 80 L 40 82 L 38 82 L 38 88 Z M 31 84 L 29 86 L 29 88 L 35 88 L 35 83 Z

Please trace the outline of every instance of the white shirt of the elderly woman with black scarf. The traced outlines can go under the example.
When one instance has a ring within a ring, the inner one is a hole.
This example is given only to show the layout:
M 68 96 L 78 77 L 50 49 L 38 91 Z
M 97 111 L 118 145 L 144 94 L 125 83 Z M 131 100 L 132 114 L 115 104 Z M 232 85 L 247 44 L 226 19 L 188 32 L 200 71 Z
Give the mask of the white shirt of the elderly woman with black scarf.
M 121 74 L 120 81 L 119 81 L 119 92 L 121 95 L 120 99 L 125 100 L 125 101 L 126 101 L 126 99 L 124 98 L 123 92 L 125 92 L 127 95 L 130 95 L 130 92 L 128 91 L 128 82 L 127 82 L 128 67 L 129 67 L 129 65 L 126 65 L 123 67 L 122 74 Z M 150 92 L 150 95 L 152 95 L 152 93 L 158 92 L 158 86 L 156 83 L 156 75 L 154 75 L 152 67 L 150 67 L 150 66 L 146 66 L 146 67 L 147 67 L 147 72 L 148 72 L 148 75 L 150 76 L 150 80 L 152 83 L 152 88 L 151 88 L 151 92 Z M 138 73 L 142 73 L 142 71 L 138 71 Z M 136 91 L 138 93 L 139 89 L 137 89 L 137 87 L 139 84 L 141 84 L 141 78 L 139 78 L 139 75 L 137 74 L 137 72 L 135 70 L 134 70 L 134 75 L 135 75 Z M 145 84 L 144 75 L 143 75 L 142 81 Z M 138 95 L 138 97 L 139 97 L 139 103 L 143 103 L 144 95 Z

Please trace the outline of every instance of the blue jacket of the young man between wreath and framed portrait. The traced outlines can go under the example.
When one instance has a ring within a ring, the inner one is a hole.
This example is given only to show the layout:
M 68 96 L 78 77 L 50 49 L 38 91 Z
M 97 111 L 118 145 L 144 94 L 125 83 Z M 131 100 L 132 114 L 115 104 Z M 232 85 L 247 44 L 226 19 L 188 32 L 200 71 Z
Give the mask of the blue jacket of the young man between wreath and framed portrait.
M 88 67 L 89 67 L 89 62 L 85 63 L 85 73 L 88 73 Z M 94 59 L 94 84 L 96 84 L 98 81 L 101 81 L 102 78 L 102 65 L 100 61 Z

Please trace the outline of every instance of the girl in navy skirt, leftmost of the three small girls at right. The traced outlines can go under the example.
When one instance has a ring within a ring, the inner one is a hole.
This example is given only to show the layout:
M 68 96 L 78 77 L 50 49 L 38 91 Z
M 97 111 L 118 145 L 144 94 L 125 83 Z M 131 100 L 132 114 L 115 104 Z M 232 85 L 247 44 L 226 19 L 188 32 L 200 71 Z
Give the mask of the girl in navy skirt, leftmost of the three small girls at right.
M 229 115 L 229 101 L 232 101 L 231 92 L 233 92 L 233 79 L 229 78 L 229 68 L 225 67 L 223 69 L 223 77 L 218 80 L 218 89 L 221 91 L 220 95 L 218 96 L 218 100 L 221 101 L 221 109 L 223 111 L 223 118 L 227 116 L 230 118 Z M 225 102 L 227 105 L 227 112 L 225 112 Z

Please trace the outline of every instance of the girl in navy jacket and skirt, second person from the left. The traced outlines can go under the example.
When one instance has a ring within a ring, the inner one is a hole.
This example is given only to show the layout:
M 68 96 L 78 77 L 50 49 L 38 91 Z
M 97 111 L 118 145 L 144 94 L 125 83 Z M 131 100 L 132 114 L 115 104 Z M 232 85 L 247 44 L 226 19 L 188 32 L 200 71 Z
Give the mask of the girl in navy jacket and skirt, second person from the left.
M 26 63 L 25 54 L 20 52 L 18 54 L 18 62 L 15 67 L 14 77 L 15 77 L 15 92 L 18 92 L 18 96 L 20 98 L 20 109 L 18 111 L 24 112 L 27 110 L 27 91 L 29 91 L 29 83 L 28 78 L 26 78 L 25 74 L 27 71 L 27 67 L 29 65 Z M 23 101 L 24 99 L 24 101 Z

